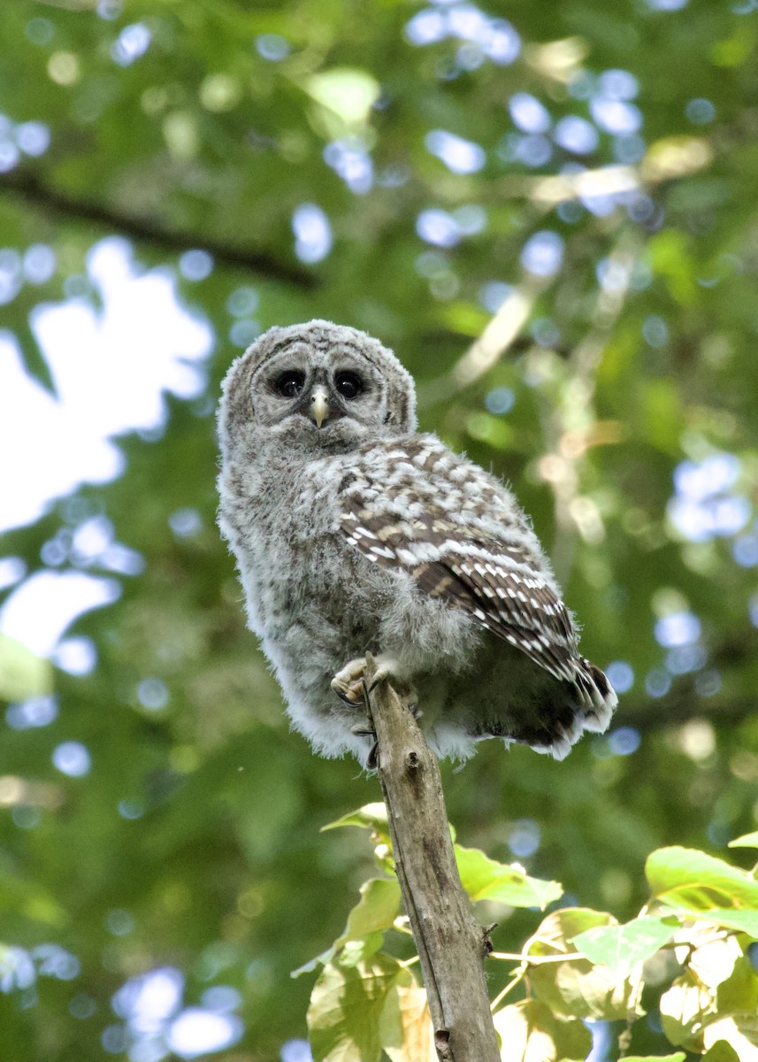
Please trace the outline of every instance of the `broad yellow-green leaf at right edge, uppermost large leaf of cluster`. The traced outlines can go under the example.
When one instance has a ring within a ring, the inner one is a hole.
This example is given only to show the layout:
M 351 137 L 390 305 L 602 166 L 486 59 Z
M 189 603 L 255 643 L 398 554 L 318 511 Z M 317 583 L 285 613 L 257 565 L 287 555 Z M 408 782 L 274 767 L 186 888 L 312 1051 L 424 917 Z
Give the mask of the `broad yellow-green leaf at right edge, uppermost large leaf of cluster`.
M 644 873 L 653 895 L 670 907 L 687 911 L 758 908 L 758 881 L 696 849 L 658 849 L 648 857 Z

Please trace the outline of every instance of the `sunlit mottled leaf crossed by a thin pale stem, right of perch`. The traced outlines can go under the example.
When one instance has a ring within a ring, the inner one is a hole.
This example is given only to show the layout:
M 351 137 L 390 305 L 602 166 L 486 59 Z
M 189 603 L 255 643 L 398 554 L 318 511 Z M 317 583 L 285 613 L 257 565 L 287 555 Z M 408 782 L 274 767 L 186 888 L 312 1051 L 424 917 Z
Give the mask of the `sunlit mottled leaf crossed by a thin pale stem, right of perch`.
M 557 1014 L 615 1021 L 625 1017 L 635 1006 L 628 980 L 580 958 L 571 943 L 581 932 L 608 925 L 615 925 L 610 914 L 572 907 L 549 914 L 527 942 L 524 953 L 529 957 L 557 957 L 555 961 L 534 963 L 529 970 L 534 993 Z M 566 957 L 565 961 L 561 956 Z

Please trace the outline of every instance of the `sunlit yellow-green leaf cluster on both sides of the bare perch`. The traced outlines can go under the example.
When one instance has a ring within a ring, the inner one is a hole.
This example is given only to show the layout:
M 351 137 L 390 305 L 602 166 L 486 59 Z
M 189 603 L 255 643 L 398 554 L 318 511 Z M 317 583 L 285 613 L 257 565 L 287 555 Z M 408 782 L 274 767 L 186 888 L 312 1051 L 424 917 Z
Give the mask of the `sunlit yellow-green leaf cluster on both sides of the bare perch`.
M 333 823 L 372 830 L 373 877 L 332 946 L 293 976 L 318 970 L 308 1026 L 316 1062 L 434 1062 L 433 1030 L 424 989 L 407 948 L 408 920 L 393 873 L 386 815 L 366 805 Z M 758 847 L 758 835 L 735 846 Z M 487 965 L 514 964 L 492 1004 L 503 1062 L 583 1062 L 593 1025 L 617 1030 L 627 1062 L 739 1062 L 758 1050 L 758 881 L 694 849 L 652 852 L 644 867 L 650 896 L 619 923 L 607 911 L 562 907 L 556 881 L 532 878 L 477 849 L 455 845 L 461 881 L 473 903 L 549 913 L 517 954 L 493 948 Z M 495 927 L 493 926 L 494 930 Z M 513 995 L 512 995 L 513 993 Z M 517 1001 L 511 1001 L 520 995 Z M 509 1001 L 505 1001 L 510 997 Z M 656 1054 L 634 1054 L 659 1028 Z M 666 1047 L 675 1054 L 660 1054 Z

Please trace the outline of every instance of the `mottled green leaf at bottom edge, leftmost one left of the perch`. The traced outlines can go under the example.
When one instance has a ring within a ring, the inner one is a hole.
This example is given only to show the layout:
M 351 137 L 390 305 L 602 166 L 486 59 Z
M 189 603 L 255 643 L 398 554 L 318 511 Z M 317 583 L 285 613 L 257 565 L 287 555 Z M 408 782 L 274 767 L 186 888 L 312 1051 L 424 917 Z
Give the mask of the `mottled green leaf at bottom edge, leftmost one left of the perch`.
M 395 984 L 412 984 L 397 959 L 376 955 L 355 966 L 327 964 L 313 986 L 308 1032 L 315 1062 L 378 1062 L 379 1022 Z

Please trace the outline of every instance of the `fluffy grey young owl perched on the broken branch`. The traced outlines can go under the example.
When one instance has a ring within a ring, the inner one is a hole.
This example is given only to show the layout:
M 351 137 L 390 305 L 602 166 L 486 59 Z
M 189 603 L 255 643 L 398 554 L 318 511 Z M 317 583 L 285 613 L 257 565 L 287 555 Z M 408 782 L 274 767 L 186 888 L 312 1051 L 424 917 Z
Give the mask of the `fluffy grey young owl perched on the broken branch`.
M 496 737 L 562 759 L 616 695 L 514 495 L 416 424 L 392 352 L 328 321 L 272 328 L 226 376 L 219 524 L 292 725 L 365 765 L 369 651 L 437 756 Z

